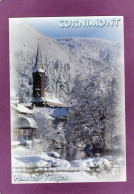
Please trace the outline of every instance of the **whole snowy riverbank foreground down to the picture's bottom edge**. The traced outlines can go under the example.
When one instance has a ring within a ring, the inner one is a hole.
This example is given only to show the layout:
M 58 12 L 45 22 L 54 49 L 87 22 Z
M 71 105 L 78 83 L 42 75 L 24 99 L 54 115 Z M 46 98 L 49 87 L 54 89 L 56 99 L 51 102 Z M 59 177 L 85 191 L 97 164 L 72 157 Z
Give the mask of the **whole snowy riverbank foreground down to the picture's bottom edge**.
M 68 162 L 61 159 L 56 152 L 39 154 L 26 146 L 17 146 L 12 149 L 13 179 L 14 176 L 18 175 L 43 176 L 45 178 L 39 178 L 37 182 L 52 182 L 52 180 L 49 180 L 51 179 L 49 176 L 65 175 L 67 180 L 64 179 L 59 182 L 119 181 L 122 166 L 124 166 L 124 160 L 117 156 L 87 158 Z M 124 175 L 122 174 L 122 176 Z M 18 182 L 23 181 L 15 179 L 15 182 L 17 180 Z M 53 180 L 53 182 L 58 181 Z

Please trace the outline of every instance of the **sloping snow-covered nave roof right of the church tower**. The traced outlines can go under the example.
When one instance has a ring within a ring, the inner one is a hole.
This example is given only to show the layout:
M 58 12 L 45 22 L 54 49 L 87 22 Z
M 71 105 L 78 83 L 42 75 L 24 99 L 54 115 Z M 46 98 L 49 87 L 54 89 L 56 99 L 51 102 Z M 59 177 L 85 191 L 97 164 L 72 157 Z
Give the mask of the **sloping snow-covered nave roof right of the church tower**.
M 53 95 L 53 94 L 49 94 L 49 93 L 45 93 L 45 100 L 48 104 L 57 104 L 59 106 L 62 105 L 62 103 Z

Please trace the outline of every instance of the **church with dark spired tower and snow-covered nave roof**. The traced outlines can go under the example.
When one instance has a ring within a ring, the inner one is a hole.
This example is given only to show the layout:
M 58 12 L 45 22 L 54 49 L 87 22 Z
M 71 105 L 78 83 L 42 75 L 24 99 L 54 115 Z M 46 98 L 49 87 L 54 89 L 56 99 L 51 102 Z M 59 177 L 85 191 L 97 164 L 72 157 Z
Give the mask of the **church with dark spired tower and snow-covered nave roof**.
M 39 45 L 37 47 L 32 77 L 32 105 L 36 107 L 62 107 L 62 103 L 53 94 L 49 94 L 45 91 L 45 71 L 43 70 L 42 56 Z

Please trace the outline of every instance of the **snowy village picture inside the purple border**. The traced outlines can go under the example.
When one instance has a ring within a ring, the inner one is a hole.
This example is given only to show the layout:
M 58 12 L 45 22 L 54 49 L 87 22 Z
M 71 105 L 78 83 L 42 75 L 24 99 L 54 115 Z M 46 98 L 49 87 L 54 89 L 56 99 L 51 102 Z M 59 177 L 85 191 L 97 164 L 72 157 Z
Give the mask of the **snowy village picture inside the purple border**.
M 122 16 L 9 19 L 12 183 L 126 181 Z

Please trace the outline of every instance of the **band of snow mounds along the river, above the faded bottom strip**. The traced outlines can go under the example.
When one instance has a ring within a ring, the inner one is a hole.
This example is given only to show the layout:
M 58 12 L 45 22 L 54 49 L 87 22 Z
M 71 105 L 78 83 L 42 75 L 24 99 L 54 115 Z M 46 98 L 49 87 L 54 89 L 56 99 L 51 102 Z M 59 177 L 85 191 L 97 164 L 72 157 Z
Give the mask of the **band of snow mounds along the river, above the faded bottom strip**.
M 17 142 L 16 144 L 17 145 Z M 31 147 L 17 146 L 12 149 L 12 166 L 15 167 L 70 167 L 72 171 L 74 168 L 79 170 L 99 168 L 101 170 L 110 169 L 114 163 L 114 167 L 124 161 L 122 157 L 110 157 L 110 160 L 105 157 L 87 158 L 81 160 L 73 160 L 68 162 L 67 160 L 60 159 L 60 155 L 57 152 L 46 151 L 41 154 L 34 151 Z M 107 156 L 108 158 L 109 156 Z

